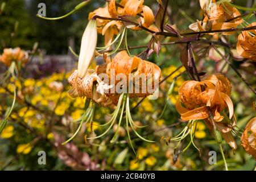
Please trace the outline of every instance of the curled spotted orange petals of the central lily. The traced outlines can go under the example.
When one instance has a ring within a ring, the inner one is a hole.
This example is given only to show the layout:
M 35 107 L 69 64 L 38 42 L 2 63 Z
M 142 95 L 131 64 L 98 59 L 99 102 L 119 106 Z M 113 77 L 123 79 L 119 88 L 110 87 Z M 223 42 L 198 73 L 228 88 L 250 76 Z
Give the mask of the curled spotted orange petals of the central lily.
M 158 65 L 142 60 L 137 56 L 131 57 L 126 51 L 117 53 L 112 62 L 105 65 L 105 71 L 103 67 L 101 67 L 101 69 L 103 69 L 101 72 L 105 72 L 109 78 L 113 76 L 114 71 L 115 76 L 118 74 L 126 76 L 127 85 L 130 84 L 129 81 L 133 82 L 134 89 L 139 89 L 139 93 L 131 92 L 129 93 L 130 97 L 149 96 L 152 94 L 152 91 L 157 89 L 155 85 L 157 86 L 157 82 L 159 82 L 162 77 L 162 71 Z M 131 78 L 129 78 L 130 76 Z M 117 77 L 115 78 L 115 84 L 118 84 L 120 80 L 117 79 Z M 137 78 L 141 78 L 141 81 L 137 80 Z M 152 86 L 151 92 L 148 92 L 148 88 L 145 88 L 145 93 L 142 92 L 142 87 L 145 83 Z

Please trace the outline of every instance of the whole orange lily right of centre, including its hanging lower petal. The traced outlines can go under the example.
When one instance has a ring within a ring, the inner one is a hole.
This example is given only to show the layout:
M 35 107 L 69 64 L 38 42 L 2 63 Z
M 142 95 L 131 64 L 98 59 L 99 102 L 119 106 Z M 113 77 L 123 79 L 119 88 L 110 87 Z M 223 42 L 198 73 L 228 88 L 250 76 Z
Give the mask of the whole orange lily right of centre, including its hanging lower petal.
M 221 74 L 210 75 L 203 81 L 186 81 L 178 90 L 176 109 L 184 121 L 204 119 L 211 132 L 216 126 L 226 142 L 236 149 L 231 133 L 236 125 L 235 119 L 233 122 L 230 120 L 234 114 L 229 97 L 231 90 L 228 78 Z M 229 111 L 229 118 L 225 118 L 225 109 Z M 210 117 L 213 117 L 214 123 Z

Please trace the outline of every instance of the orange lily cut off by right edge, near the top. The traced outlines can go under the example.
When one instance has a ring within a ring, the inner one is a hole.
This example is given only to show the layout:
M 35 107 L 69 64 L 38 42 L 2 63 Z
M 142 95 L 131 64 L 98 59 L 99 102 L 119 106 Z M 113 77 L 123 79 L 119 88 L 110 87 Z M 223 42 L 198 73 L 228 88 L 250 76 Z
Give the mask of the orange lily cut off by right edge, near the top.
M 251 23 L 248 27 L 256 26 Z M 256 30 L 242 31 L 238 36 L 237 52 L 246 59 L 256 61 Z

